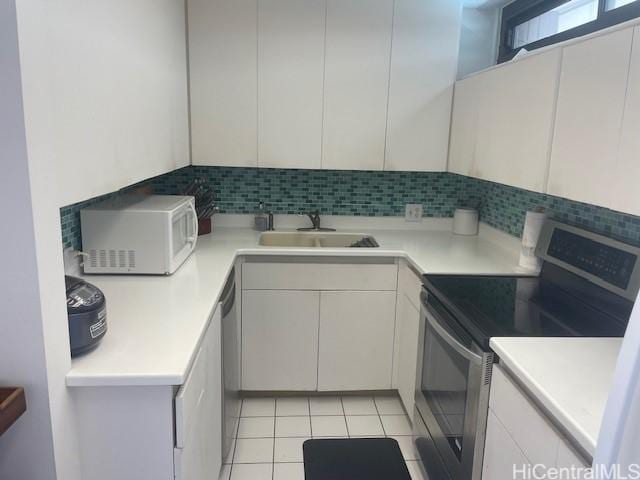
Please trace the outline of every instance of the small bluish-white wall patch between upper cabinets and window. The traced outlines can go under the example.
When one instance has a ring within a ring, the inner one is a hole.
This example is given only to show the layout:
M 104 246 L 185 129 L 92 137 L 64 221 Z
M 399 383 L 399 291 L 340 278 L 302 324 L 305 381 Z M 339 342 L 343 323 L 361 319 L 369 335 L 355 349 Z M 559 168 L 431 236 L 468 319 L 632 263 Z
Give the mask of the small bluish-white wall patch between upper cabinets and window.
M 464 8 L 458 79 L 496 64 L 501 7 Z

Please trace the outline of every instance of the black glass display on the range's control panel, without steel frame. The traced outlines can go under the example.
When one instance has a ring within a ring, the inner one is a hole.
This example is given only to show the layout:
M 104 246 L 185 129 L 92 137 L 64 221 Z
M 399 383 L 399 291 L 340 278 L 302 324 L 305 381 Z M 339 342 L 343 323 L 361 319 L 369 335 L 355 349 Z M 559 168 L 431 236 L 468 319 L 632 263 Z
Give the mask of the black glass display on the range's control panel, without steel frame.
M 553 232 L 547 254 L 622 289 L 629 286 L 638 260 L 630 252 L 561 229 Z

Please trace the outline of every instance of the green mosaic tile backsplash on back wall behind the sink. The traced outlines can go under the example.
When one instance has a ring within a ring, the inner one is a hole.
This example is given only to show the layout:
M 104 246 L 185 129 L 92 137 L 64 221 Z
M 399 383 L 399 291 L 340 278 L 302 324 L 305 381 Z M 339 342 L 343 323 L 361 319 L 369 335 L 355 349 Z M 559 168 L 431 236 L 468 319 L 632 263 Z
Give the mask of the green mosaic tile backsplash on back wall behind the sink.
M 465 177 L 447 173 L 190 167 L 151 184 L 175 194 L 194 176 L 213 185 L 222 213 L 253 213 L 262 201 L 279 214 L 392 217 L 404 215 L 407 203 L 422 203 L 425 216 L 449 217 L 457 205 L 479 200 Z

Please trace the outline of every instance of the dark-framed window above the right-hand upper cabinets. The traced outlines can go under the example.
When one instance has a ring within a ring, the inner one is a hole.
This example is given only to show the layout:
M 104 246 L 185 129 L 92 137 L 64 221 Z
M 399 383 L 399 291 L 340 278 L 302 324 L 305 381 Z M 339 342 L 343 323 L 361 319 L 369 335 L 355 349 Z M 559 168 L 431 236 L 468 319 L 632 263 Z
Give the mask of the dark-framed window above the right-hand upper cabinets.
M 498 62 L 640 17 L 640 0 L 516 0 L 502 9 Z

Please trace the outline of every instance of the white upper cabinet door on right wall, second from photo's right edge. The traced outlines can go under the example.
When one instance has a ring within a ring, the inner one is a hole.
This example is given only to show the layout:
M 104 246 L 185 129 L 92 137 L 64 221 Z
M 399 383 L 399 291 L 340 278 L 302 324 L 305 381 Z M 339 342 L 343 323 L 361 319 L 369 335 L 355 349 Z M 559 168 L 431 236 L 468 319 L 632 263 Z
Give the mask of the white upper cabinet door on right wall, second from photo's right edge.
M 632 34 L 564 48 L 548 193 L 602 206 L 618 194 L 612 186 Z

